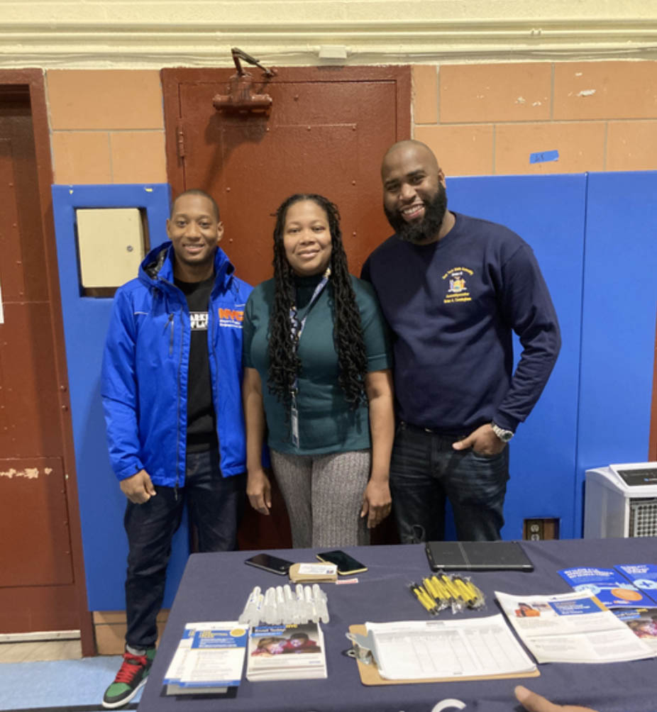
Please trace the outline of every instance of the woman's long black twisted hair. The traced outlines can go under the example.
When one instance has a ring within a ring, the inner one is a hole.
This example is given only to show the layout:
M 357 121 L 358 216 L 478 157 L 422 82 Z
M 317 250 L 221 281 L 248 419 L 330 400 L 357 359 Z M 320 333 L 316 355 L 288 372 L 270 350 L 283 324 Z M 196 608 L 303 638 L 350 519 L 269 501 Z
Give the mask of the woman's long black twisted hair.
M 326 287 L 333 302 L 333 343 L 338 353 L 338 383 L 352 409 L 365 400 L 367 355 L 361 314 L 351 286 L 347 256 L 342 244 L 340 214 L 329 199 L 317 194 L 291 195 L 276 210 L 274 226 L 274 305 L 269 315 L 269 378 L 271 393 L 289 409 L 290 389 L 301 372 L 299 355 L 291 338 L 290 309 L 296 302 L 294 271 L 285 255 L 284 227 L 287 211 L 299 201 L 311 200 L 326 213 L 331 233 L 331 278 Z

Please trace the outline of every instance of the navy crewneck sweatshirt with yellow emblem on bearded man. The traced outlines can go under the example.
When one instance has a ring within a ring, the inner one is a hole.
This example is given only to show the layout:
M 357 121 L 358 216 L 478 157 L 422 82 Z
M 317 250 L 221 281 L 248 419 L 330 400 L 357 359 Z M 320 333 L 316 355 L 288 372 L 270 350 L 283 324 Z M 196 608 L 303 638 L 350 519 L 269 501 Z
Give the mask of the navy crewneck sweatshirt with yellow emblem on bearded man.
M 398 415 L 445 434 L 491 421 L 514 431 L 557 360 L 557 315 L 526 242 L 454 215 L 440 241 L 392 236 L 363 266 L 393 330 Z M 514 374 L 513 331 L 523 347 Z

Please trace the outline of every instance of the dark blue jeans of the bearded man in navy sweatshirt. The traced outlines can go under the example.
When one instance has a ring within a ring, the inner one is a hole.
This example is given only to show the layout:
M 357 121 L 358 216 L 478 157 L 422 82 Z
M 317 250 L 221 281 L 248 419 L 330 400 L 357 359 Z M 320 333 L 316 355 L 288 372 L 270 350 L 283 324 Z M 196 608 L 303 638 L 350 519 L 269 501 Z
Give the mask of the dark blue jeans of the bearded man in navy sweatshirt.
M 461 438 L 399 424 L 390 461 L 390 493 L 403 544 L 443 540 L 447 500 L 458 540 L 500 539 L 509 448 L 494 456 L 452 449 Z

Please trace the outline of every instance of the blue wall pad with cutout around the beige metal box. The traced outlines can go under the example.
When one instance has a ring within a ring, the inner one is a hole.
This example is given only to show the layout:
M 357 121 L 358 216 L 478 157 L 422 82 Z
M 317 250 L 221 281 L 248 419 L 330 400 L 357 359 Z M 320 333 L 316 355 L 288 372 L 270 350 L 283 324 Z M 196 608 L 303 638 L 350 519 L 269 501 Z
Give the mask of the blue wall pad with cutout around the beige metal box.
M 125 497 L 110 468 L 100 402 L 100 362 L 112 300 L 81 295 L 75 216 L 78 208 L 142 209 L 155 246 L 166 239 L 170 189 L 167 184 L 55 185 L 52 191 L 88 604 L 90 610 L 123 609 Z M 182 529 L 174 545 L 165 605 L 173 600 L 187 559 Z

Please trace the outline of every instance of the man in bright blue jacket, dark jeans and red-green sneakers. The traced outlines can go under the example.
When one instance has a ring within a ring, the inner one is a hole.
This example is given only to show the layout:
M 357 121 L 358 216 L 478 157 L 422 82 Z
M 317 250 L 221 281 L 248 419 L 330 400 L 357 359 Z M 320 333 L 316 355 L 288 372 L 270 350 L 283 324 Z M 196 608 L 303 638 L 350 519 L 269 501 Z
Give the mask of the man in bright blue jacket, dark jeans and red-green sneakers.
M 155 656 L 171 540 L 185 503 L 200 551 L 235 548 L 245 498 L 242 313 L 251 288 L 219 248 L 214 199 L 175 199 L 167 234 L 116 293 L 103 356 L 110 459 L 128 498 L 128 630 L 103 707 L 130 701 Z

